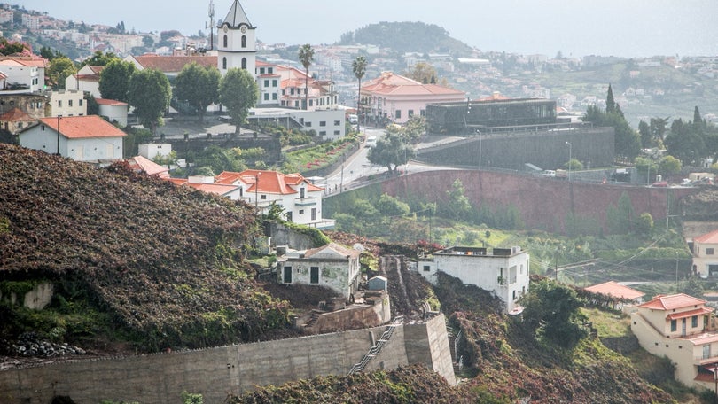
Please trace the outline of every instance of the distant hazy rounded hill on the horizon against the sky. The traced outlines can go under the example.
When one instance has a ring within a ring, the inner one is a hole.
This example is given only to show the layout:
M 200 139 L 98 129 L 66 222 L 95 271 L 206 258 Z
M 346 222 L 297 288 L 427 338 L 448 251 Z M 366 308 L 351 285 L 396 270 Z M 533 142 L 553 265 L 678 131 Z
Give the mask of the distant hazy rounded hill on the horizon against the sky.
M 453 56 L 471 54 L 472 48 L 449 36 L 437 25 L 423 22 L 386 22 L 370 24 L 341 35 L 339 45 L 371 44 L 401 53 L 449 53 Z

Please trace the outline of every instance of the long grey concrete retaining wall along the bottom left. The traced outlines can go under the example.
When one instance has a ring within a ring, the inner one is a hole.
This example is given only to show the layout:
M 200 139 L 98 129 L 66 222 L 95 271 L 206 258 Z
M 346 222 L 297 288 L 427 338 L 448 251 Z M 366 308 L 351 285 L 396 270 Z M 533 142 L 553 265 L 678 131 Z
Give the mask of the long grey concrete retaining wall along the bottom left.
M 228 393 L 299 378 L 346 375 L 385 327 L 303 338 L 94 361 L 59 361 L 0 371 L 0 402 L 47 404 L 66 395 L 78 404 L 100 400 L 179 402 L 183 391 L 222 402 Z M 443 315 L 399 326 L 366 371 L 423 363 L 454 383 Z

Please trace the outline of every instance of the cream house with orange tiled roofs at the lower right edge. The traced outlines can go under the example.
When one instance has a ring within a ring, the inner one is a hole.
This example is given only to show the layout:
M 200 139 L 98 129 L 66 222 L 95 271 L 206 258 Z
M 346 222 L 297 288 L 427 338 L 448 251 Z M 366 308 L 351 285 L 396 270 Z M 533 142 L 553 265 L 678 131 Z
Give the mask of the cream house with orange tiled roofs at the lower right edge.
M 650 354 L 675 364 L 675 379 L 713 390 L 718 370 L 714 309 L 684 293 L 658 295 L 631 313 L 631 331 Z

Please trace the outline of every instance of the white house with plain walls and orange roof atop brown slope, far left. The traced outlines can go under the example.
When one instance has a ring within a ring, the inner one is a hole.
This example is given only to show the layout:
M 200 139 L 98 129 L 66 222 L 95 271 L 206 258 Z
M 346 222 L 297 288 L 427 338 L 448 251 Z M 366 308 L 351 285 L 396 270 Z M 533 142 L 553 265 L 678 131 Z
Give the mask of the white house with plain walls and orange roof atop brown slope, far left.
M 20 146 L 77 161 L 122 159 L 125 133 L 97 115 L 41 118 L 20 132 Z

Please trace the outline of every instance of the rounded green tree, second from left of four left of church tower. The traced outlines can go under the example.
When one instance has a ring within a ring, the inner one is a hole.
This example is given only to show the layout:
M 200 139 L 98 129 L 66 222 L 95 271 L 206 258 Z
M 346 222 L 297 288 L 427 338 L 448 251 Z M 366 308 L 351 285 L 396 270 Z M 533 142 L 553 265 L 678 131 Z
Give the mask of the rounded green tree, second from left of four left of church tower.
M 159 70 L 140 70 L 129 80 L 129 105 L 135 107 L 137 119 L 144 128 L 152 130 L 152 135 L 162 124 L 162 114 L 167 111 L 171 97 L 167 76 Z

